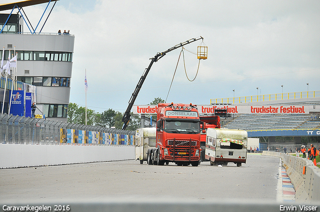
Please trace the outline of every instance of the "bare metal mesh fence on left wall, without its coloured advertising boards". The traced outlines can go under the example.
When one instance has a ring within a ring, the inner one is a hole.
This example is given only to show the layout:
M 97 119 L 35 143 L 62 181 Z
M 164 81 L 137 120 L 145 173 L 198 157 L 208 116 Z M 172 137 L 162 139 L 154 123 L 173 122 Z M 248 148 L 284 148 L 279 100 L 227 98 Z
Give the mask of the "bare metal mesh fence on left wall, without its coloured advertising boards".
M 114 135 L 134 135 L 134 131 L 129 130 L 118 130 L 99 126 L 88 126 L 82 124 L 72 124 L 66 122 L 49 121 L 45 119 L 35 119 L 23 116 L 0 114 L 0 143 L 2 144 L 59 145 L 62 143 L 62 139 L 60 139 L 60 137 L 62 136 L 62 129 L 92 131 L 101 134 L 109 133 Z M 134 141 L 132 141 L 132 144 L 133 142 Z M 63 142 L 63 144 L 68 143 Z M 81 143 L 78 145 L 87 145 L 87 143 Z M 91 145 L 107 144 L 98 142 Z

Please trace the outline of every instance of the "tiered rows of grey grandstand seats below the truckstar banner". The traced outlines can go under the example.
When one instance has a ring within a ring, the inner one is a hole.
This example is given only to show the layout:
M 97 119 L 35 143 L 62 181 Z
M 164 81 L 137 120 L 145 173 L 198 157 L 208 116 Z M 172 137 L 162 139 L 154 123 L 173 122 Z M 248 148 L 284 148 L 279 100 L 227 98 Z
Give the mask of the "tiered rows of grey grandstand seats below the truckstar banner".
M 319 129 L 320 120 L 312 115 L 300 114 L 253 114 L 233 117 L 222 127 L 241 130 L 275 130 L 275 129 Z

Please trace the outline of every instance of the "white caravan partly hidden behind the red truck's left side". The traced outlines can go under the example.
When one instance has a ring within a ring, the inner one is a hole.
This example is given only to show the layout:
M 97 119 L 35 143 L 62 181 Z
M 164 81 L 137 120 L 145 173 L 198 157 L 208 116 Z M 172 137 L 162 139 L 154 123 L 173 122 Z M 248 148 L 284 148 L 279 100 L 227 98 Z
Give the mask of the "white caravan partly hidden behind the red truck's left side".
M 148 149 L 155 148 L 155 127 L 145 127 L 135 130 L 135 159 L 143 164 L 147 160 Z

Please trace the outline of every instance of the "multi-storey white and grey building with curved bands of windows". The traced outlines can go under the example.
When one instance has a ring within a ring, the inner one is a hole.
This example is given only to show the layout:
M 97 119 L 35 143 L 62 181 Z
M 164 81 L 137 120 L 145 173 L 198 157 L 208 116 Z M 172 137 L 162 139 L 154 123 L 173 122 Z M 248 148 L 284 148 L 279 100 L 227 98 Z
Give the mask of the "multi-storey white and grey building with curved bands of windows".
M 1 6 L 0 10 L 3 10 Z M 8 58 L 9 50 L 12 53 L 15 48 L 17 80 L 36 86 L 35 114 L 65 122 L 70 96 L 74 35 L 32 31 L 25 33 L 22 16 L 11 14 L 7 20 L 8 16 L 0 14 L 0 46 L 4 46 L 4 58 Z

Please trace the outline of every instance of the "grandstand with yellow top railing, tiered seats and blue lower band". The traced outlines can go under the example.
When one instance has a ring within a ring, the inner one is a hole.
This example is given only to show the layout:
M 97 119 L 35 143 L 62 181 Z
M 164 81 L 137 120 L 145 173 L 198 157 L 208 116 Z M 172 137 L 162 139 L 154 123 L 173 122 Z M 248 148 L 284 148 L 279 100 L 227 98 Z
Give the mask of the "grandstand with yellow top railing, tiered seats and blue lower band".
M 245 130 L 248 137 L 259 137 L 260 150 L 266 150 L 267 146 L 271 150 L 281 150 L 284 146 L 295 150 L 301 144 L 320 145 L 320 91 L 211 99 L 210 103 L 219 106 L 312 105 L 315 109 L 307 114 L 231 114 L 221 118 L 221 127 Z

